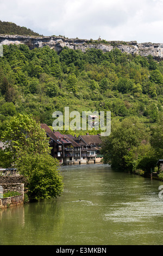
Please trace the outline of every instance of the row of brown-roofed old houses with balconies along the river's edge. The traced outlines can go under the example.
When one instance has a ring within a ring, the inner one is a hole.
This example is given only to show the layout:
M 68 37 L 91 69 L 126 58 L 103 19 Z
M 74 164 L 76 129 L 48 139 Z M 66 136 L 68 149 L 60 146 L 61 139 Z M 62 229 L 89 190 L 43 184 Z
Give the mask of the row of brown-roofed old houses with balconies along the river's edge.
M 51 147 L 51 155 L 59 160 L 60 164 L 86 164 L 101 162 L 100 135 L 62 135 L 59 131 L 52 131 L 46 124 L 41 124 L 46 131 Z

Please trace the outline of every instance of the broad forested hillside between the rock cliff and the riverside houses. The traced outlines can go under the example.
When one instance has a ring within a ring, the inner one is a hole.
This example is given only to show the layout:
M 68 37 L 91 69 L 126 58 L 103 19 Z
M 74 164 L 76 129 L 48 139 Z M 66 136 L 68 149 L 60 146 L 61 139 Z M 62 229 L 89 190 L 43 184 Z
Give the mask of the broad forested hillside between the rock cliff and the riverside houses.
M 16 113 L 52 125 L 52 113 L 64 112 L 65 106 L 80 113 L 111 111 L 112 118 L 134 115 L 154 124 L 162 112 L 162 84 L 163 62 L 152 56 L 131 56 L 117 48 L 103 53 L 65 47 L 57 54 L 48 46 L 4 45 L 0 132 Z

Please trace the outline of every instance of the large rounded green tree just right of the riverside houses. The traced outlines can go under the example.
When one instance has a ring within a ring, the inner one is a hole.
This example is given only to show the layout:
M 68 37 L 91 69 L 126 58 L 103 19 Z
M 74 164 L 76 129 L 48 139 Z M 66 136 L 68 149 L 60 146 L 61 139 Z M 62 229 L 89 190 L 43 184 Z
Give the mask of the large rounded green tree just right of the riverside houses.
M 125 118 L 122 122 L 112 121 L 111 135 L 103 142 L 105 163 L 122 169 L 127 168 L 128 160 L 133 158 L 130 150 L 140 147 L 143 140 L 149 141 L 149 129 L 136 118 Z

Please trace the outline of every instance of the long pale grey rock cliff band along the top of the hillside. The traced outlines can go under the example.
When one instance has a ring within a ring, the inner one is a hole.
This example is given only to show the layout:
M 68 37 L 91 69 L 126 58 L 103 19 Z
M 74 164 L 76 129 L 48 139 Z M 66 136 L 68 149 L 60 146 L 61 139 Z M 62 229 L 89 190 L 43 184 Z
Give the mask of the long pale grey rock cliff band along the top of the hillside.
M 30 49 L 35 47 L 49 46 L 60 52 L 63 47 L 73 50 L 86 51 L 87 48 L 101 49 L 103 52 L 111 51 L 114 48 L 130 54 L 140 54 L 141 56 L 152 55 L 156 59 L 163 58 L 163 44 L 152 44 L 151 42 L 137 44 L 136 41 L 93 41 L 85 39 L 67 39 L 62 36 L 28 36 L 28 35 L 0 35 L 0 44 L 26 44 Z

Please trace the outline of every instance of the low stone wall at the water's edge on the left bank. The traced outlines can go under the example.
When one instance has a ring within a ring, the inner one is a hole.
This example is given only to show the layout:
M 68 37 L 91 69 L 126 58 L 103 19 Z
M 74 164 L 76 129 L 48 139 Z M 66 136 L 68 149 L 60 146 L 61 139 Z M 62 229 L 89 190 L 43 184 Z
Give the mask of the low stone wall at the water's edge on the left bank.
M 6 197 L 0 199 L 0 208 L 7 208 L 9 206 L 15 206 L 18 204 L 23 204 L 24 196 Z

